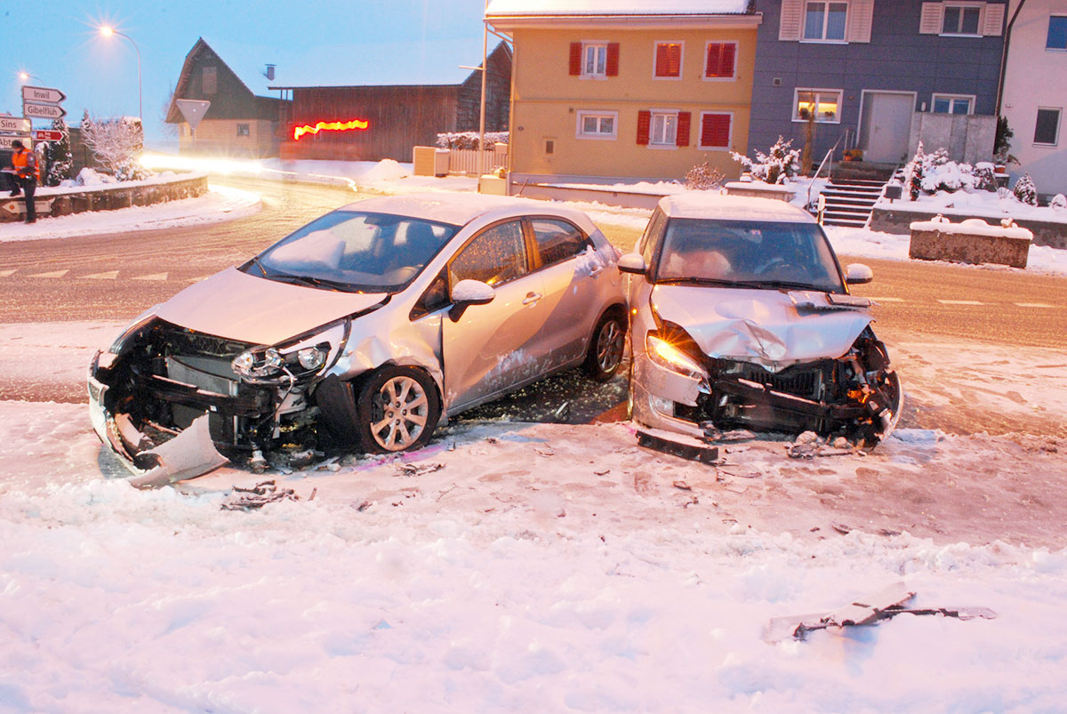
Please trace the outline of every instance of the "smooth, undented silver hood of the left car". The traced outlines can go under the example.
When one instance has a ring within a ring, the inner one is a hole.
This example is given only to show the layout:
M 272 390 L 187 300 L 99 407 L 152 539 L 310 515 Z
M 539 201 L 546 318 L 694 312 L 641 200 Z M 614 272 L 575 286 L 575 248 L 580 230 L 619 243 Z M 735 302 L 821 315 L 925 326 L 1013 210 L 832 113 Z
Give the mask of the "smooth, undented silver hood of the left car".
M 228 268 L 187 287 L 160 305 L 156 316 L 217 337 L 273 345 L 386 297 L 278 283 Z

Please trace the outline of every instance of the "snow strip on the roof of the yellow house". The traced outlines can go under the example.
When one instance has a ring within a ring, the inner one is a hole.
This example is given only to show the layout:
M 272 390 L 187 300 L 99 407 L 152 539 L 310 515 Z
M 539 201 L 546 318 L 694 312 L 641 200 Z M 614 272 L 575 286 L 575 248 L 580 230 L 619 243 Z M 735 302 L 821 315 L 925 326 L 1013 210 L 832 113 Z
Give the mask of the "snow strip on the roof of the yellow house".
M 492 0 L 489 17 L 500 15 L 737 15 L 749 0 Z

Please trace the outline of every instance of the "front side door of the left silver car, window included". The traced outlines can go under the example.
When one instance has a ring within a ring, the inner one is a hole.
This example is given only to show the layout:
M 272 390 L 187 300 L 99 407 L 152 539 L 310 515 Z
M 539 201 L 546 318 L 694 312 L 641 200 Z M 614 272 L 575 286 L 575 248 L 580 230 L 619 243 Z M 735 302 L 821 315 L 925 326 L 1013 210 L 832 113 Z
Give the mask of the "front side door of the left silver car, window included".
M 501 394 L 545 371 L 536 339 L 544 323 L 544 287 L 530 272 L 521 219 L 492 225 L 448 264 L 450 289 L 461 280 L 492 285 L 493 301 L 469 305 L 442 324 L 445 403 L 455 412 Z

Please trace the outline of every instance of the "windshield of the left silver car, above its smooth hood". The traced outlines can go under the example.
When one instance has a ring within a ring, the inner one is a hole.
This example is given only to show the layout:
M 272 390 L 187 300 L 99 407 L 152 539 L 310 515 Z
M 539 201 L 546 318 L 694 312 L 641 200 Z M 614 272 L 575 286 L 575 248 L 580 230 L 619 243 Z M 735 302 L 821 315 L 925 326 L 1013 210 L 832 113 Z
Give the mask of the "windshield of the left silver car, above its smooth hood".
M 241 269 L 323 289 L 396 292 L 458 231 L 405 216 L 337 210 L 283 238 Z

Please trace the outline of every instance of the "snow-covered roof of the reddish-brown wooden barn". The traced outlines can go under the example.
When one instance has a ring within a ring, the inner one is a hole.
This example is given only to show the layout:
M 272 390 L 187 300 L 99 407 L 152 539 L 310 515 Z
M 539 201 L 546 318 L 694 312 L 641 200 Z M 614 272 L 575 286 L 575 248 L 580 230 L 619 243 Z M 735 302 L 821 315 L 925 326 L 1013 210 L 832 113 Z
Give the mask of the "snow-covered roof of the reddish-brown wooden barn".
M 256 96 L 276 97 L 271 86 L 364 86 L 389 84 L 459 84 L 471 74 L 460 64 L 481 63 L 481 46 L 461 41 L 411 43 L 338 44 L 282 47 L 225 42 L 204 42 L 226 63 Z M 421 68 L 418 58 L 427 61 Z M 410 62 L 383 58 L 413 58 Z M 453 58 L 444 61 L 441 58 Z M 274 79 L 267 65 L 274 65 Z

